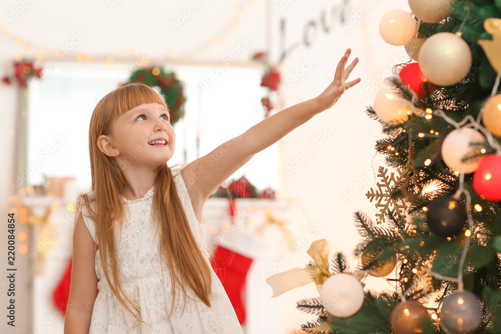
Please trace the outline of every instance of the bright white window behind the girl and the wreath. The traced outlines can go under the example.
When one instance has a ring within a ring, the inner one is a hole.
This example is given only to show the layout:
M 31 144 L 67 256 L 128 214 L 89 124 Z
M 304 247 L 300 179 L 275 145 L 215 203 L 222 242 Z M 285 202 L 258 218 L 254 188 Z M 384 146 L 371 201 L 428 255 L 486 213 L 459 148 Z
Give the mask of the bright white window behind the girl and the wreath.
M 176 148 L 169 166 L 190 162 L 263 120 L 261 68 L 174 66 L 184 83 L 185 119 L 174 125 Z M 79 191 L 91 187 L 89 123 L 99 100 L 125 82 L 130 73 L 119 68 L 61 64 L 30 87 L 28 165 L 35 166 L 29 184 L 47 176 L 76 176 Z M 206 87 L 205 87 L 206 86 Z M 199 91 L 197 92 L 197 88 Z M 160 92 L 158 88 L 155 89 Z M 199 133 L 199 151 L 197 151 Z M 242 175 L 258 189 L 279 188 L 278 143 L 256 154 L 230 178 Z M 228 181 L 229 181 L 228 180 Z

